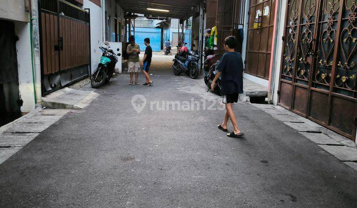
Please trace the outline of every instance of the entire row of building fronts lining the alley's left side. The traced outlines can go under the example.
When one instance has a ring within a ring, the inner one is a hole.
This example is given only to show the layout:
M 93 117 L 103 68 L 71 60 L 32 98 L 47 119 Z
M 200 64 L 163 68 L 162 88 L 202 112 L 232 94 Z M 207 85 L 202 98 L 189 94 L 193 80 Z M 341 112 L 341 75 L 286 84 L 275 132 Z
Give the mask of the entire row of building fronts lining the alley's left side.
M 0 126 L 96 69 L 104 41 L 124 40 L 116 0 L 1 0 Z

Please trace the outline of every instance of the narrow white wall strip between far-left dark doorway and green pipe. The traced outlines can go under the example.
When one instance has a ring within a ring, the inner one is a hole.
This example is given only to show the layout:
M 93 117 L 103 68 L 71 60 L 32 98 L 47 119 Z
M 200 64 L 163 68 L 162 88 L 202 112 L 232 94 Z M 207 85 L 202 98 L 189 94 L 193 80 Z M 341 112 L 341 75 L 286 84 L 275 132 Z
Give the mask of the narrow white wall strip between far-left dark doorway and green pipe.
M 23 101 L 21 112 L 35 109 L 35 91 L 31 62 L 30 24 L 15 22 L 15 34 L 19 37 L 16 42 L 19 94 Z

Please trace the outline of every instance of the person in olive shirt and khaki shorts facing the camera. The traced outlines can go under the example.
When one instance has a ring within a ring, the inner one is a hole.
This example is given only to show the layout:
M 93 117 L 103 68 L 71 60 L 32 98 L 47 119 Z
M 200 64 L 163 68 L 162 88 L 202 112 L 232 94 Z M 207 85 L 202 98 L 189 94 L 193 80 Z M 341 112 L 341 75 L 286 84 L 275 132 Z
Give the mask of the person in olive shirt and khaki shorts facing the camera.
M 138 77 L 140 71 L 140 47 L 135 44 L 134 36 L 129 37 L 129 45 L 126 48 L 126 53 L 128 54 L 128 72 L 130 73 L 130 82 L 129 85 L 132 85 L 133 74 L 135 73 L 135 85 L 138 85 Z

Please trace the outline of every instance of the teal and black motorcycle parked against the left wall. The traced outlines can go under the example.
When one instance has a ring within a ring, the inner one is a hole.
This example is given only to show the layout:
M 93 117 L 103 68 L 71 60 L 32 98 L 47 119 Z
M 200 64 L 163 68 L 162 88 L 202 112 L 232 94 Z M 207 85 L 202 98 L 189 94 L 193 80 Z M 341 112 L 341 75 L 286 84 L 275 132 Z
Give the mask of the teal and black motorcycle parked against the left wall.
M 115 65 L 118 62 L 118 56 L 120 53 L 115 54 L 108 43 L 104 43 L 106 48 L 99 47 L 99 49 L 103 52 L 101 56 L 101 60 L 98 64 L 98 68 L 94 71 L 91 79 L 92 88 L 99 88 L 103 86 L 105 83 L 108 83 L 115 71 Z M 119 49 L 117 49 L 119 51 Z

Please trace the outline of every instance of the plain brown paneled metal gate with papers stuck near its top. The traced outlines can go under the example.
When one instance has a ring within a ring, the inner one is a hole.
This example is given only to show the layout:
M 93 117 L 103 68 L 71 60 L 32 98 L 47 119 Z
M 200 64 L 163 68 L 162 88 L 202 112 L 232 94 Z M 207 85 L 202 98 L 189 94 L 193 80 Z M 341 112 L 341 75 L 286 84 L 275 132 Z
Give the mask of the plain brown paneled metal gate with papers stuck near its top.
M 275 0 L 250 0 L 244 72 L 269 79 Z

